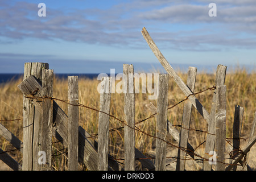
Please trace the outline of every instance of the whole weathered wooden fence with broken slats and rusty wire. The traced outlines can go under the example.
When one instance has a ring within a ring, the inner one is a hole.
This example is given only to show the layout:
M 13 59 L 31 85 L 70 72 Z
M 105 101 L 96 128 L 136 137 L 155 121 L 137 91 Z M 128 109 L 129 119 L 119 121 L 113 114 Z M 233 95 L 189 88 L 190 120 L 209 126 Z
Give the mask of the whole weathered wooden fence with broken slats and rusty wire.
M 163 171 L 166 170 L 167 144 L 171 144 L 167 141 L 167 134 L 171 134 L 179 142 L 179 146 L 176 146 L 178 148 L 176 170 L 185 170 L 187 155 L 190 155 L 192 159 L 203 160 L 203 170 L 205 171 L 212 170 L 213 164 L 216 165 L 216 170 L 236 170 L 238 163 L 250 169 L 247 163 L 243 163 L 243 158 L 246 158 L 246 154 L 247 156 L 249 155 L 250 148 L 256 142 L 256 135 L 254 135 L 256 113 L 250 141 L 243 150 L 239 150 L 243 108 L 238 105 L 234 114 L 233 149 L 231 150 L 233 155 L 228 163 L 227 159 L 225 159 L 226 67 L 223 65 L 218 65 L 217 67 L 215 86 L 209 88 L 215 89 L 215 92 L 213 93 L 212 107 L 210 113 L 208 113 L 196 98 L 196 94 L 199 93 L 194 93 L 197 69 L 189 67 L 187 84 L 185 84 L 156 47 L 146 28 L 143 28 L 142 34 L 168 73 L 168 75 L 159 75 L 157 106 L 147 105 L 152 115 L 156 115 L 156 135 L 150 135 L 150 137 L 156 139 L 155 164 L 135 148 L 135 130 L 144 132 L 135 127 L 134 78 L 129 77 L 129 73 L 134 74 L 134 68 L 133 65 L 128 64 L 123 65 L 123 74 L 127 77 L 127 81 L 124 82 L 126 85 L 123 85 L 123 88 L 127 89 L 124 94 L 125 119 L 124 121 L 119 119 L 124 125 L 124 168 L 109 155 L 108 151 L 109 119 L 113 117 L 109 114 L 112 79 L 110 77 L 102 77 L 100 110 L 96 110 L 99 112 L 98 141 L 96 142 L 85 129 L 79 126 L 78 108 L 82 105 L 79 104 L 78 77 L 68 77 L 67 115 L 55 102 L 57 98 L 53 98 L 53 71 L 49 69 L 47 63 L 26 63 L 24 65 L 24 79 L 18 85 L 18 88 L 23 93 L 23 142 L 3 125 L 0 125 L 0 135 L 23 153 L 22 166 L 1 149 L 0 159 L 14 170 L 52 170 L 52 137 L 55 137 L 68 148 L 69 170 L 78 170 L 80 162 L 93 171 L 134 171 L 135 159 L 138 159 L 147 170 Z M 180 132 L 167 119 L 169 76 L 174 79 L 186 96 L 183 100 L 184 108 Z M 130 92 L 131 90 L 133 92 Z M 196 154 L 194 148 L 188 143 L 192 107 L 199 111 L 208 124 L 205 156 Z M 213 151 L 217 155 L 216 163 L 211 160 L 214 156 L 212 154 Z

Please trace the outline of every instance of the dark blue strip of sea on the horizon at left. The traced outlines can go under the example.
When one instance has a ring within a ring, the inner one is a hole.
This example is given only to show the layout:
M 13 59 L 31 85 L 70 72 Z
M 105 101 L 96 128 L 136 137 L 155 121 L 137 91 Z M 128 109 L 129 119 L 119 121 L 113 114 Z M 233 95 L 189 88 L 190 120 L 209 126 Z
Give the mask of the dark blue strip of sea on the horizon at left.
M 79 76 L 81 77 L 86 77 L 86 78 L 97 78 L 99 73 L 86 73 L 86 74 L 76 74 L 76 73 L 56 73 L 55 76 L 58 78 L 68 78 L 68 76 Z M 108 74 L 110 75 L 110 74 Z M 18 80 L 18 78 L 23 77 L 23 74 L 19 73 L 0 73 L 0 84 L 9 82 L 9 81 L 14 81 Z

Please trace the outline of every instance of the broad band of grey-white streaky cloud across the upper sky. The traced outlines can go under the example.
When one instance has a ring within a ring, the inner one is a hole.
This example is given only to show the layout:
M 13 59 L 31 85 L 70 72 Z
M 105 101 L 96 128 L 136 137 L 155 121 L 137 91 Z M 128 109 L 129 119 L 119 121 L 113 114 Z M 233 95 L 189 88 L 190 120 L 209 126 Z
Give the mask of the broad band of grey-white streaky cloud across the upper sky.
M 61 39 L 71 42 L 145 48 L 141 29 L 168 48 L 195 51 L 222 47 L 256 48 L 256 1 L 216 0 L 217 17 L 209 17 L 212 1 L 129 1 L 108 10 L 64 10 L 47 7 L 37 16 L 34 3 L 2 3 L 0 35 L 13 40 Z M 183 29 L 180 28 L 182 25 Z M 194 27 L 194 28 L 191 28 Z M 182 30 L 182 31 L 181 31 Z

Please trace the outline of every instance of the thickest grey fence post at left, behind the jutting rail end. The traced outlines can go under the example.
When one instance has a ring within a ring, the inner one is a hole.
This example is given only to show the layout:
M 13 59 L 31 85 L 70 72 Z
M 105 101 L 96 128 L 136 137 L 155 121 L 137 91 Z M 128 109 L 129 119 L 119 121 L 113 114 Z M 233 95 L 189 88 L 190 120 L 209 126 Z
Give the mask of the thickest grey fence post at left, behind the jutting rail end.
M 24 78 L 33 75 L 42 84 L 42 71 L 49 69 L 48 63 L 25 63 Z M 33 92 L 32 90 L 31 92 Z M 32 171 L 33 167 L 37 166 L 38 161 L 33 158 L 33 154 L 38 154 L 38 131 L 34 131 L 34 125 L 42 120 L 42 115 L 38 110 L 35 110 L 34 105 L 27 98 L 23 98 L 23 171 Z

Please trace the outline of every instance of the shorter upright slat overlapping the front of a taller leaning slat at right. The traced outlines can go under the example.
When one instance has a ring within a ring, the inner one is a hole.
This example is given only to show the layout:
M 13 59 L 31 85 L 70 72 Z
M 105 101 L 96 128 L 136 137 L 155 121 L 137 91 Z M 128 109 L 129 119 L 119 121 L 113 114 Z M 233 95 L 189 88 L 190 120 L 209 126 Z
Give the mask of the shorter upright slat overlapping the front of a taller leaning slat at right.
M 216 153 L 217 171 L 225 170 L 226 152 L 226 85 L 217 86 L 216 89 Z

